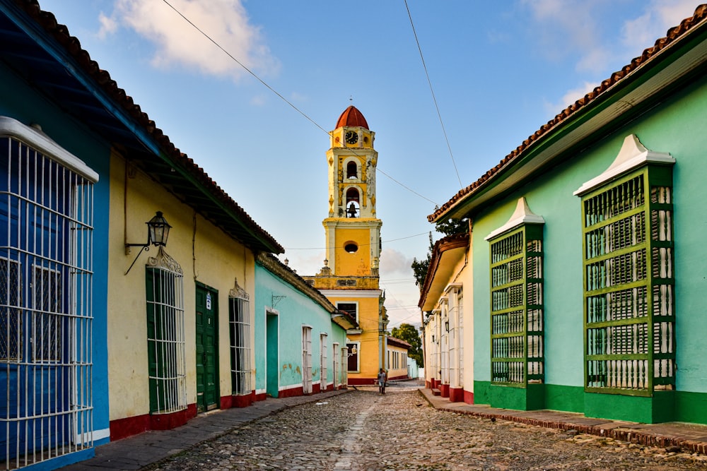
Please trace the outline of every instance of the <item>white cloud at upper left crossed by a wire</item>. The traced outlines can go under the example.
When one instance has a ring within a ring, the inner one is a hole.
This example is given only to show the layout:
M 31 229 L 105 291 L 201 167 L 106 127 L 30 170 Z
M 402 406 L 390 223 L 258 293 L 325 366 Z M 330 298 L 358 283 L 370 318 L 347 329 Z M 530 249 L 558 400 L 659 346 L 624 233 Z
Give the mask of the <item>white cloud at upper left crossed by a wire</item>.
M 262 75 L 278 71 L 279 61 L 264 44 L 260 28 L 249 23 L 240 0 L 170 0 L 170 4 L 213 42 L 160 0 L 117 0 L 112 19 L 101 20 L 101 31 L 114 32 L 112 22 L 132 28 L 155 44 L 151 63 L 160 68 L 196 68 L 204 74 L 230 78 L 246 75 L 243 66 Z

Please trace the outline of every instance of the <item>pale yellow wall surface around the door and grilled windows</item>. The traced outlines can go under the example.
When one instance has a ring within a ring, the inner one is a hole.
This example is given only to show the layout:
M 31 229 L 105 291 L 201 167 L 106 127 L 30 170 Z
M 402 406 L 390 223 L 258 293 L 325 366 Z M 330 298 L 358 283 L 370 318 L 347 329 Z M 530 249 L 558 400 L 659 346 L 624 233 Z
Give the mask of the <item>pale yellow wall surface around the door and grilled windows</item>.
M 145 264 L 157 253 L 151 248 L 141 253 L 127 275 L 125 271 L 141 251 L 133 247 L 125 254 L 127 242 L 145 243 L 146 222 L 160 210 L 172 225 L 165 251 L 184 271 L 185 356 L 187 404 L 197 400 L 195 358 L 195 281 L 218 290 L 218 354 L 220 396 L 230 395 L 228 354 L 228 292 L 238 284 L 255 293 L 255 260 L 252 252 L 223 234 L 192 208 L 141 172 L 127 172 L 117 154 L 110 171 L 110 253 L 108 292 L 108 371 L 110 419 L 122 419 L 149 412 Z M 250 303 L 251 318 L 254 305 Z M 251 338 L 253 345 L 254 338 Z M 255 367 L 252 372 L 255 386 Z

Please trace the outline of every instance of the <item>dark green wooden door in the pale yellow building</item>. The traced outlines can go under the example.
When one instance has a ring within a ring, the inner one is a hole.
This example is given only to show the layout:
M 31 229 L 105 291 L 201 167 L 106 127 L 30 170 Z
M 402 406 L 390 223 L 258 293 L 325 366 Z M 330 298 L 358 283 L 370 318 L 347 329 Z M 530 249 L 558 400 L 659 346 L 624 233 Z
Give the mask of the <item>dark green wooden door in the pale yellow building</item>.
M 197 285 L 197 410 L 216 409 L 218 396 L 218 292 Z

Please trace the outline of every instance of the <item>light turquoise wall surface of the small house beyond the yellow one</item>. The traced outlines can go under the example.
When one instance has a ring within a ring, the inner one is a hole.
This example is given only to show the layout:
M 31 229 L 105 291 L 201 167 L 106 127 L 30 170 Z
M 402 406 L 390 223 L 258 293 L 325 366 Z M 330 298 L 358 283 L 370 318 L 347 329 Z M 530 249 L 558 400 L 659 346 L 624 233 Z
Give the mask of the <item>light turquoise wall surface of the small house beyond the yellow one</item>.
M 266 309 L 272 308 L 273 296 L 279 312 L 279 387 L 302 384 L 302 326 L 312 328 L 312 382 L 320 381 L 320 334 L 327 333 L 327 383 L 333 381 L 334 351 L 338 342 L 346 345 L 346 330 L 333 323 L 330 314 L 292 285 L 269 270 L 255 264 L 255 388 L 266 388 Z M 339 374 L 341 373 L 339 368 Z M 339 379 L 339 381 L 341 381 Z M 322 385 L 322 388 L 324 386 Z M 269 389 L 269 388 L 268 388 Z

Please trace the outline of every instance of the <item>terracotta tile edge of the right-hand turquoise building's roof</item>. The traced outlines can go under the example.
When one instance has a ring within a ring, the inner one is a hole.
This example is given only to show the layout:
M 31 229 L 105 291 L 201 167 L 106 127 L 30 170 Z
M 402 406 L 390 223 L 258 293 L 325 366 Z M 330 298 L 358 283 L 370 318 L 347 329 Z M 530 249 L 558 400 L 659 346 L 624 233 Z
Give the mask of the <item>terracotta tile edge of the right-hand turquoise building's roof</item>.
M 637 68 L 643 66 L 643 64 L 645 64 L 651 57 L 655 56 L 655 54 L 658 54 L 658 52 L 662 51 L 662 49 L 665 49 L 665 47 L 667 47 L 669 44 L 679 39 L 679 37 L 682 37 L 685 32 L 689 31 L 691 28 L 694 28 L 699 23 L 702 23 L 705 18 L 707 18 L 707 4 L 703 4 L 695 8 L 695 13 L 693 16 L 685 18 L 684 20 L 682 20 L 682 22 L 680 22 L 679 25 L 667 30 L 667 35 L 665 37 L 661 37 L 660 39 L 656 40 L 655 44 L 653 44 L 652 47 L 648 47 L 647 49 L 645 49 L 643 51 L 643 54 L 631 60 L 630 64 L 627 64 L 626 66 L 622 67 L 620 71 L 612 73 L 609 78 L 602 81 L 602 83 L 600 83 L 600 85 L 594 88 L 594 90 L 590 91 L 589 93 L 581 97 L 579 100 L 575 101 L 572 105 L 569 105 L 568 107 L 563 109 L 561 112 L 559 112 L 559 114 L 554 117 L 554 119 L 551 119 L 550 121 L 547 121 L 546 124 L 543 124 L 540 129 L 532 133 L 532 135 L 529 136 L 525 141 L 523 141 L 521 145 L 518 145 L 518 147 L 515 148 L 511 153 L 506 155 L 506 157 L 503 157 L 503 160 L 501 160 L 498 165 L 487 171 L 484 175 L 481 176 L 481 178 L 479 178 L 477 181 L 474 181 L 474 183 L 470 184 L 464 189 L 461 189 L 457 194 L 455 194 L 455 196 L 452 196 L 452 198 L 447 203 L 444 203 L 433 214 L 428 215 L 427 220 L 429 222 L 434 222 L 439 215 L 445 213 L 449 208 L 455 205 L 455 203 L 462 200 L 462 198 L 464 198 L 465 196 L 469 195 L 469 193 L 473 193 L 475 189 L 479 188 L 479 186 L 481 186 L 486 181 L 498 174 L 498 172 L 500 172 L 503 167 L 506 167 L 511 162 L 518 159 L 519 156 L 522 155 L 522 153 L 524 153 L 525 150 L 530 147 L 530 145 L 539 141 L 539 139 L 543 138 L 543 136 L 546 136 L 552 129 L 555 129 L 560 124 L 563 124 L 563 122 L 566 121 L 566 119 L 568 119 L 569 117 L 571 117 L 575 112 L 578 112 L 578 110 L 583 109 L 583 107 L 586 107 L 594 100 L 596 100 L 597 97 L 606 93 L 607 90 L 612 88 L 619 81 L 629 75 L 629 73 L 636 71 Z

